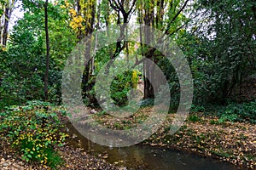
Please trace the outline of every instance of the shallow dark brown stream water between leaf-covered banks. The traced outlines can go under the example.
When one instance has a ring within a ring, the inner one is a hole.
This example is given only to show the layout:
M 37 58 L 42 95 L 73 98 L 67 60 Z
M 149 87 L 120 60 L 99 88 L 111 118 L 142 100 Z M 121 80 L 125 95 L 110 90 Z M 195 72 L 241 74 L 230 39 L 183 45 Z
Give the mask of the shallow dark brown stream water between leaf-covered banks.
M 110 148 L 92 143 L 82 136 L 72 124 L 67 125 L 73 136 L 73 145 L 84 148 L 90 155 L 104 157 L 109 163 L 117 164 L 127 169 L 157 169 L 157 170 L 233 170 L 237 169 L 230 163 L 212 158 L 205 158 L 177 150 L 160 149 L 137 144 L 129 147 Z M 78 142 L 79 141 L 79 142 Z

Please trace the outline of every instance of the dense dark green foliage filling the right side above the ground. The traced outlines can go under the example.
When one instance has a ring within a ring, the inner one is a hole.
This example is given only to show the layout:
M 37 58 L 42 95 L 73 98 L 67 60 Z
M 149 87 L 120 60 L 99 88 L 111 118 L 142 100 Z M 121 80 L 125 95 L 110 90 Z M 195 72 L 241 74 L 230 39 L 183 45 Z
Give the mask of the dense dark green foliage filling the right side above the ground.
M 182 42 L 191 44 L 183 48 L 193 71 L 195 101 L 224 104 L 239 83 L 255 73 L 255 3 L 201 0 L 199 4 L 200 11 L 209 12 L 196 20 L 196 33 Z

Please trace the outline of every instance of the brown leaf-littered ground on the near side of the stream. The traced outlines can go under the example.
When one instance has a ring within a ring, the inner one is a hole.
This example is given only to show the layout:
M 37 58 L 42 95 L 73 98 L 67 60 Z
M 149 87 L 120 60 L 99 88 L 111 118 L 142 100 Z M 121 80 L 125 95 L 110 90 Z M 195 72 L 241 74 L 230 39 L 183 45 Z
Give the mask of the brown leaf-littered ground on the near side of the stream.
M 39 163 L 26 162 L 17 155 L 15 150 L 12 150 L 9 147 L 9 144 L 6 144 L 5 141 L 0 141 L 0 169 L 4 170 L 44 170 L 49 169 Z M 63 159 L 63 164 L 56 167 L 56 169 L 67 170 L 67 169 L 121 169 L 115 167 L 112 164 L 106 162 L 103 159 L 96 158 L 95 156 L 88 155 L 83 149 L 73 148 L 68 145 L 63 147 L 56 147 L 55 150 L 58 151 L 61 158 Z

